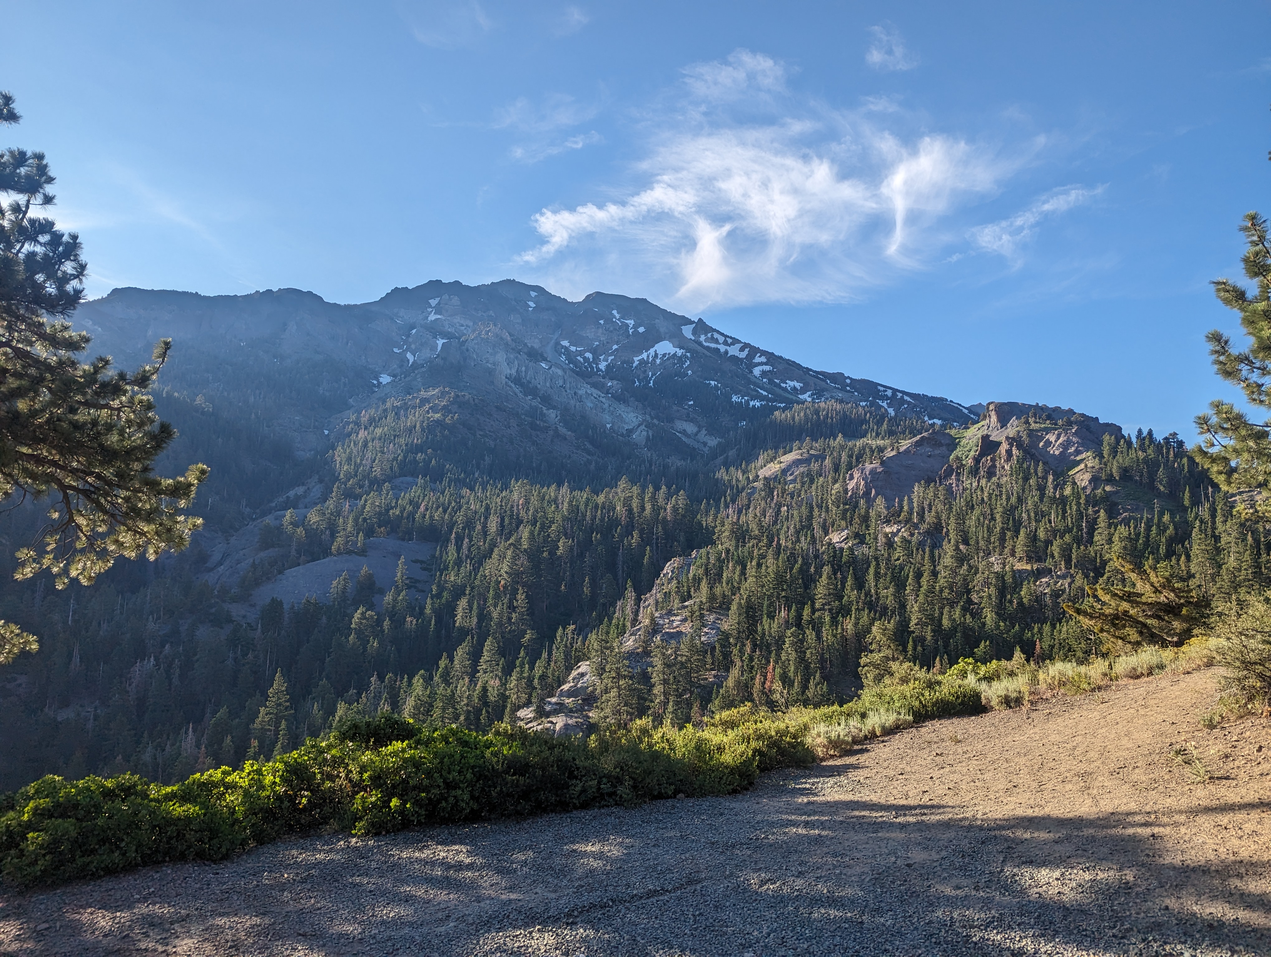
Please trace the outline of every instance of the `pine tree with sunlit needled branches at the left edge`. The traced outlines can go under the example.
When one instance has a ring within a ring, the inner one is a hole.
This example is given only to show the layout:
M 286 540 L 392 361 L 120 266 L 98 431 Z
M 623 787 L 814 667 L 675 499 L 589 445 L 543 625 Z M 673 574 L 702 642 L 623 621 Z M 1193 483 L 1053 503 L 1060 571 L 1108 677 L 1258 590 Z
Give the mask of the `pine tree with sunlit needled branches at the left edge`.
M 20 118 L 0 93 L 0 126 Z M 84 299 L 88 266 L 76 234 L 36 215 L 53 205 L 53 182 L 42 153 L 0 153 L 0 196 L 13 197 L 0 206 L 0 498 L 51 499 L 51 521 L 18 552 L 15 574 L 47 568 L 65 588 L 71 578 L 92 585 L 121 555 L 155 559 L 189 544 L 201 521 L 180 510 L 207 468 L 154 474 L 177 436 L 147 391 L 170 341 L 136 372 L 114 371 L 107 357 L 79 361 L 89 337 L 66 318 Z M 34 648 L 33 635 L 0 621 L 0 663 Z

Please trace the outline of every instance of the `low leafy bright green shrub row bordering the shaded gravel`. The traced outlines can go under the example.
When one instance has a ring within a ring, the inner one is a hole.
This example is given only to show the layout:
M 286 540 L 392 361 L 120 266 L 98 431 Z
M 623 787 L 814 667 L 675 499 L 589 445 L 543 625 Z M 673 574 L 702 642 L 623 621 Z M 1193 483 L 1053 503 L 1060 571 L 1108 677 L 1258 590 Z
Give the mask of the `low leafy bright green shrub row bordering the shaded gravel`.
M 319 827 L 356 835 L 423 824 L 731 794 L 810 764 L 806 723 L 740 709 L 704 730 L 585 741 L 497 726 L 488 735 L 350 714 L 282 757 L 161 787 L 133 774 L 47 777 L 0 803 L 0 876 L 51 885 L 168 860 L 217 860 Z

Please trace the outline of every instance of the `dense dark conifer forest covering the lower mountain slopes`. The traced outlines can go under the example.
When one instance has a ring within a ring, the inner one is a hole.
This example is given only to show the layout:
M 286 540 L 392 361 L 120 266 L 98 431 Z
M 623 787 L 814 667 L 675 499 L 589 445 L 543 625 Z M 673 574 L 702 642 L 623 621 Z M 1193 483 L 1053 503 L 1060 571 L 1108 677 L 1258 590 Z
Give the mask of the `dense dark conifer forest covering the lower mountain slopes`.
M 417 441 L 408 419 L 380 428 L 384 447 Z M 43 647 L 4 676 L 17 705 L 0 716 L 4 785 L 125 769 L 177 780 L 294 747 L 342 702 L 483 728 L 552 695 L 585 658 L 599 694 L 611 647 L 647 624 L 641 597 L 694 553 L 660 607 L 723 628 L 700 652 L 667 647 L 662 672 L 636 681 L 637 713 L 843 700 L 862 666 L 901 658 L 935 670 L 1016 648 L 1080 658 L 1088 642 L 1060 604 L 1103 578 L 1113 554 L 1166 563 L 1207 595 L 1263 576 L 1260 529 L 1172 437 L 1106 442 L 1071 474 L 1008 442 L 979 461 L 952 458 L 899 501 L 845 493 L 854 470 L 924 428 L 799 405 L 751 432 L 759 449 L 669 464 L 677 482 L 574 488 L 441 468 L 404 491 L 374 484 L 358 451 L 369 440 L 352 431 L 329 460 L 327 497 L 262 526 L 261 546 L 281 558 L 258 574 L 356 553 L 370 536 L 436 541 L 427 597 L 404 580 L 344 578 L 247 618 L 253 582 L 214 590 L 197 545 L 92 588 L 5 586 L 4 614 Z M 801 469 L 780 465 L 791 451 Z M 11 525 L 10 541 L 25 531 Z

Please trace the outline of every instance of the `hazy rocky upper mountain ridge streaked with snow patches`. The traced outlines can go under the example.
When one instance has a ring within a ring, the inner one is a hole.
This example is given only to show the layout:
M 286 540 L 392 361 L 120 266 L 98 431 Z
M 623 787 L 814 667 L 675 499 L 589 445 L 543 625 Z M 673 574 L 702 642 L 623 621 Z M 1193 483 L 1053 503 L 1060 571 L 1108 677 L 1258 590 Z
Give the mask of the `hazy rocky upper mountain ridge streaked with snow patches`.
M 512 280 L 433 281 L 360 305 L 286 288 L 118 288 L 85 304 L 76 323 L 125 365 L 172 338 L 168 388 L 214 407 L 249 403 L 301 455 L 385 409 L 458 413 L 452 445 L 496 446 L 521 472 L 535 461 L 709 452 L 775 409 L 831 399 L 932 423 L 976 418 L 949 399 L 808 369 L 643 299 L 594 292 L 572 302 Z

